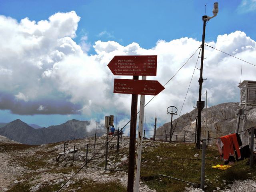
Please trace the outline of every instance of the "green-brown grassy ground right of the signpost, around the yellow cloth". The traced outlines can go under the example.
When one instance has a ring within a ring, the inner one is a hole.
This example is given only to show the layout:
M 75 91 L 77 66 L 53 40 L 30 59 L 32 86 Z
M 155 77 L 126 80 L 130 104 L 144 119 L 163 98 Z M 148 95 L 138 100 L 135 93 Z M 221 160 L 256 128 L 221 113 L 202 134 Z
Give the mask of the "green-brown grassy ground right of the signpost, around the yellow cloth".
M 194 144 L 152 142 L 142 150 L 140 179 L 157 192 L 183 192 L 187 186 L 186 182 L 157 174 L 171 176 L 200 186 L 201 152 L 202 150 L 195 148 Z M 199 154 L 199 156 L 196 158 L 194 157 L 195 154 Z M 207 148 L 206 176 L 220 171 L 212 168 L 212 166 L 224 164 L 220 158 L 208 158 L 213 156 L 218 156 L 216 148 Z M 223 189 L 234 180 L 245 180 L 256 176 L 256 169 L 250 170 L 245 161 L 234 168 L 230 168 L 230 170 L 206 178 L 209 181 L 206 182 L 208 188 L 205 191 L 216 190 L 217 186 Z M 239 163 L 236 162 L 234 165 Z M 226 180 L 226 185 L 222 180 Z

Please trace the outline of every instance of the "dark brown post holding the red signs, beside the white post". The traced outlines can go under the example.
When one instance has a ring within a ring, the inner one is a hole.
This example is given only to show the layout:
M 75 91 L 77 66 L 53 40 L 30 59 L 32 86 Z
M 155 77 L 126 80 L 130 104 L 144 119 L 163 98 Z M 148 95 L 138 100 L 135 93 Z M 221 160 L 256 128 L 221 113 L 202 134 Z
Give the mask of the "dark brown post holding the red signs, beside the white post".
M 138 80 L 139 76 L 133 76 L 132 79 Z M 134 184 L 134 164 L 135 164 L 134 159 L 135 159 L 137 105 L 138 105 L 138 95 L 132 94 L 127 192 L 133 192 L 133 184 Z

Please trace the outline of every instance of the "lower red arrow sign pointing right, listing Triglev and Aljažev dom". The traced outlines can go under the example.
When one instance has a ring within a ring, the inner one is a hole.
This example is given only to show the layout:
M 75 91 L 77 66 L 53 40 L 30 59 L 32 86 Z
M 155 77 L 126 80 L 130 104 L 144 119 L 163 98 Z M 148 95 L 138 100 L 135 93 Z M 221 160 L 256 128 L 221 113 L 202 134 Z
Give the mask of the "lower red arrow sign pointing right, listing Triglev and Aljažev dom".
M 158 81 L 154 80 L 114 80 L 114 93 L 157 95 L 162 90 L 164 90 L 164 86 L 162 86 Z

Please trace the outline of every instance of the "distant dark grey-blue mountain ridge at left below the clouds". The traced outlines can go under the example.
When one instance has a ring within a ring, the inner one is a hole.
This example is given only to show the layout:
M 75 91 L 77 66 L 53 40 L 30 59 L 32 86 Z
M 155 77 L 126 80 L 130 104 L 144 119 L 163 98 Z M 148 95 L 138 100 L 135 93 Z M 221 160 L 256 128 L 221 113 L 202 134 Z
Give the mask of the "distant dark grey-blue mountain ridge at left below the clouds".
M 64 124 L 34 129 L 17 119 L 0 128 L 0 135 L 22 144 L 38 145 L 64 140 L 74 140 L 94 134 L 95 130 L 88 131 L 88 125 L 90 125 L 90 121 L 73 119 Z M 102 131 L 103 128 L 98 125 L 97 132 Z M 100 136 L 100 134 L 98 134 L 98 136 Z

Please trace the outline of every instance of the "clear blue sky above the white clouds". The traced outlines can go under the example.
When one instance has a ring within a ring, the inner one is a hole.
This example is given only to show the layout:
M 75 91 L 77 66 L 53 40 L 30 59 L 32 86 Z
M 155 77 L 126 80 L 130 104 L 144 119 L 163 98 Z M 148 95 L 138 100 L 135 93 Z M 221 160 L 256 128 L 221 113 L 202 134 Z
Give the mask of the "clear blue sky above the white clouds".
M 152 48 L 159 39 L 170 41 L 182 37 L 202 38 L 202 16 L 212 16 L 212 0 L 1 0 L 0 13 L 18 21 L 46 20 L 56 12 L 76 11 L 81 20 L 74 39 L 84 35 L 94 44 L 97 40 L 114 40 L 122 45 L 137 42 Z M 246 2 L 246 1 L 244 1 Z M 248 0 L 250 2 L 250 0 Z M 248 3 L 241 0 L 222 0 L 218 17 L 207 26 L 206 40 L 219 34 L 246 31 L 256 37 L 256 26 L 250 22 L 255 12 L 248 12 Z M 102 35 L 100 35 L 102 34 Z M 93 52 L 93 50 L 91 50 Z

